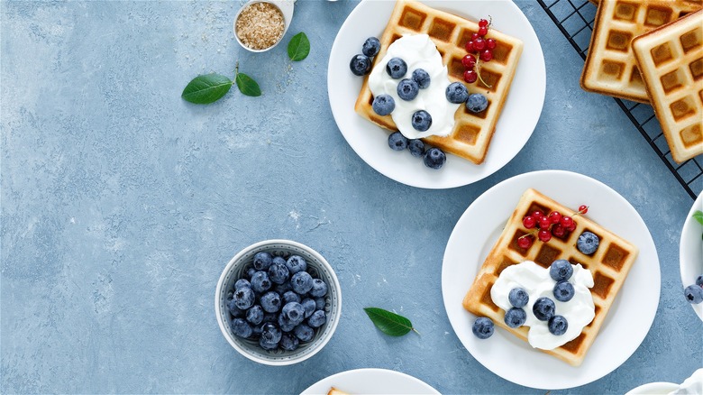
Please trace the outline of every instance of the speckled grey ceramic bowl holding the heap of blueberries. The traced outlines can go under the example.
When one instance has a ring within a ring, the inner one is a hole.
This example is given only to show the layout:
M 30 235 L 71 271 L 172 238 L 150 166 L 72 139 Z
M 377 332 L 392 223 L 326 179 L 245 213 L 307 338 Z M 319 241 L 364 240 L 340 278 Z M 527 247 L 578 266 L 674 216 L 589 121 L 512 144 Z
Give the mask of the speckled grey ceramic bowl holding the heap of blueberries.
M 227 294 L 234 289 L 234 282 L 242 278 L 243 273 L 252 266 L 254 255 L 262 251 L 284 258 L 294 254 L 300 255 L 306 259 L 307 271 L 314 278 L 320 278 L 327 283 L 328 291 L 327 295 L 324 296 L 324 312 L 327 314 L 327 322 L 315 330 L 312 341 L 301 343 L 295 351 L 289 352 L 281 349 L 267 351 L 260 347 L 258 341 L 235 336 L 232 332 L 230 323 L 233 317 L 227 308 Z M 227 263 L 215 289 L 215 315 L 224 338 L 240 354 L 258 363 L 288 365 L 305 361 L 320 351 L 324 344 L 327 344 L 337 328 L 341 314 L 342 289 L 332 266 L 312 248 L 290 240 L 267 240 L 244 248 Z

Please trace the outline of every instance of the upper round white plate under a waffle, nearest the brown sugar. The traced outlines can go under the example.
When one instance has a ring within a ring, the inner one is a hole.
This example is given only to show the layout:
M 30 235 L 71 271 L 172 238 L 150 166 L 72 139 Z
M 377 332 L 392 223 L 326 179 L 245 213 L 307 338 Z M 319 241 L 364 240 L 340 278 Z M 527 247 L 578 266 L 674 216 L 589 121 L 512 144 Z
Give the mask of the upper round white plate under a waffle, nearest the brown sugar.
M 349 14 L 334 39 L 327 69 L 327 92 L 332 114 L 352 149 L 373 169 L 398 182 L 420 188 L 454 188 L 493 174 L 525 145 L 539 120 L 544 103 L 546 71 L 542 47 L 525 14 L 509 0 L 425 2 L 436 9 L 478 21 L 493 18 L 493 26 L 525 42 L 510 94 L 496 125 L 486 161 L 475 165 L 449 155 L 441 170 L 429 169 L 409 152 L 388 148 L 388 131 L 361 118 L 354 103 L 363 78 L 349 69 L 352 56 L 370 36 L 380 37 L 395 2 L 362 1 Z

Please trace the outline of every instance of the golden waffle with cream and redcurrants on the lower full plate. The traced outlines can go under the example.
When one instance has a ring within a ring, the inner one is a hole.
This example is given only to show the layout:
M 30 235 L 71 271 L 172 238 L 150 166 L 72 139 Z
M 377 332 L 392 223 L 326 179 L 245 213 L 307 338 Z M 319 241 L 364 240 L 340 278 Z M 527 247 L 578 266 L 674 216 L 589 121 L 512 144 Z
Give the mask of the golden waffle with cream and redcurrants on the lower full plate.
M 507 326 L 504 322 L 505 311 L 498 308 L 490 298 L 490 289 L 498 279 L 500 272 L 507 266 L 523 261 L 533 261 L 544 268 L 548 268 L 552 262 L 558 259 L 565 259 L 572 264 L 580 263 L 593 274 L 594 286 L 590 289 L 590 293 L 596 306 L 596 317 L 583 328 L 579 337 L 571 342 L 553 350 L 541 350 L 573 366 L 579 366 L 590 345 L 596 339 L 598 330 L 603 324 L 617 292 L 625 282 L 625 277 L 635 262 L 638 250 L 631 243 L 594 223 L 586 216 L 575 216 L 576 229 L 571 233 L 567 232 L 563 238 L 554 236 L 547 243 L 535 240 L 525 250 L 517 245 L 517 238 L 530 232 L 523 226 L 523 217 L 528 213 L 533 213 L 534 210 L 540 210 L 544 214 L 559 211 L 563 215 L 572 215 L 576 211 L 561 206 L 532 188 L 527 189 L 520 198 L 513 215 L 508 219 L 498 242 L 481 265 L 476 279 L 464 297 L 463 307 L 477 316 L 491 318 L 497 326 L 527 341 L 528 328 L 526 326 L 517 328 Z M 597 234 L 600 238 L 598 250 L 592 255 L 580 253 L 576 248 L 576 239 L 584 231 Z

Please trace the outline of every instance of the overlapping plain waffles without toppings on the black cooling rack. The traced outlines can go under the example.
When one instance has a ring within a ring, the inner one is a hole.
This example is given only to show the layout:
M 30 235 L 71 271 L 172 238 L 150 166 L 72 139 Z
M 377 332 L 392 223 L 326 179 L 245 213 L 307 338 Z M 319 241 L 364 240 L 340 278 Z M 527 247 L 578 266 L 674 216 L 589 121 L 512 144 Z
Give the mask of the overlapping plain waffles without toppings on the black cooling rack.
M 652 103 L 677 162 L 703 153 L 701 8 L 703 0 L 598 2 L 580 79 L 589 92 Z

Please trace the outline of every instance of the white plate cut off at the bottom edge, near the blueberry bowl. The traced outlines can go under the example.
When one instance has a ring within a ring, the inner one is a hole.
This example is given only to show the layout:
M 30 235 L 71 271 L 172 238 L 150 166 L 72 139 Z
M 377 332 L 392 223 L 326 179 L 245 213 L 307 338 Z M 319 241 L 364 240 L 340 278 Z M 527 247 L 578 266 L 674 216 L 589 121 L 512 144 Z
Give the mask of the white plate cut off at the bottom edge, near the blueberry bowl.
M 406 373 L 387 369 L 356 369 L 328 376 L 301 395 L 325 394 L 332 388 L 353 394 L 437 394 L 432 386 Z

